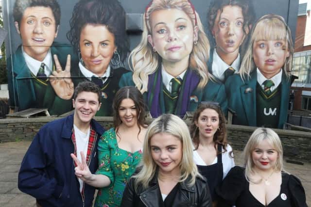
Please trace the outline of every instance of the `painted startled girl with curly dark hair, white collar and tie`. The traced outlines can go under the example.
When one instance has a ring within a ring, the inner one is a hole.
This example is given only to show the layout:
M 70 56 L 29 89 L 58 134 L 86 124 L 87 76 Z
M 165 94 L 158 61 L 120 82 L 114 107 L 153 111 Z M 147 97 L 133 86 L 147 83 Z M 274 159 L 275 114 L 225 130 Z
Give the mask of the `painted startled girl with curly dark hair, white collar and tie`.
M 241 50 L 253 21 L 250 0 L 211 1 L 207 14 L 211 37 L 208 70 L 219 81 L 225 83 L 230 75 L 239 71 Z

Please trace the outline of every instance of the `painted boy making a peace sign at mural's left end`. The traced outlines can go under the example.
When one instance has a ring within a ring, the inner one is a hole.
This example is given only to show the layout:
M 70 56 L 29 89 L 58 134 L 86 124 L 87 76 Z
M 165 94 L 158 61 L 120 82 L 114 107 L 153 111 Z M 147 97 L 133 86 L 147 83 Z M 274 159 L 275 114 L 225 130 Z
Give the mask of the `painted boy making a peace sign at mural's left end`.
M 54 42 L 60 24 L 59 4 L 56 0 L 17 0 L 13 16 L 21 45 L 7 59 L 10 106 L 18 110 L 48 108 L 51 114 L 70 110 L 71 79 L 51 81 L 52 77 L 70 77 L 68 70 L 59 67 L 70 64 L 72 49 Z

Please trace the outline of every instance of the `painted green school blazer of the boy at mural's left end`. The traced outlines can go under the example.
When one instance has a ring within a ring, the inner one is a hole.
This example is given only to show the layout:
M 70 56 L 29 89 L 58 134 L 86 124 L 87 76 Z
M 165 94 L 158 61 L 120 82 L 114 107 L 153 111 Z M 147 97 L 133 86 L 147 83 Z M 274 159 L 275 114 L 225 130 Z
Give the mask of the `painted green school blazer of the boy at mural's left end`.
M 65 68 L 67 55 L 71 55 L 71 63 L 75 60 L 72 48 L 66 44 L 54 42 L 51 55 L 57 55 L 62 68 Z M 55 70 L 52 59 L 52 70 Z M 51 115 L 59 115 L 72 109 L 72 101 L 58 97 L 49 79 L 42 80 L 33 74 L 24 58 L 22 47 L 7 59 L 8 88 L 10 106 L 18 107 L 18 111 L 29 108 L 48 108 Z M 52 71 L 51 71 L 52 72 Z

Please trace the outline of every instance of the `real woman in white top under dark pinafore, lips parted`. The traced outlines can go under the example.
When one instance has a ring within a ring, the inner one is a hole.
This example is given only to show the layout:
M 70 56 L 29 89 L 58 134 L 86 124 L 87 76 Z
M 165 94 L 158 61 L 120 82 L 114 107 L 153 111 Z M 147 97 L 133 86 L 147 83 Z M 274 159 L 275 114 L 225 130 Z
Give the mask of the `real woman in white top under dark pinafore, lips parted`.
M 227 143 L 225 116 L 218 103 L 207 102 L 198 107 L 193 115 L 190 134 L 194 145 L 194 162 L 201 175 L 207 178 L 215 206 L 215 187 L 234 167 L 232 148 Z

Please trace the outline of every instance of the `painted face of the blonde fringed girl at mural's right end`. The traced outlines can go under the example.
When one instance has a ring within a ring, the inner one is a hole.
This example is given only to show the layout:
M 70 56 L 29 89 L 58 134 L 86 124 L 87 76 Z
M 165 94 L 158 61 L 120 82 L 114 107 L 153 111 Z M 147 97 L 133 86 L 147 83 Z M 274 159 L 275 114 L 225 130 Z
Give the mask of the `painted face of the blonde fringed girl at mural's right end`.
M 253 44 L 254 63 L 267 79 L 280 72 L 289 56 L 290 52 L 284 40 L 259 40 Z

